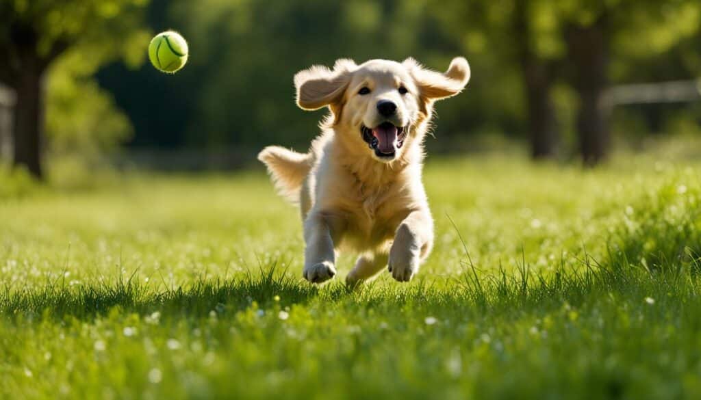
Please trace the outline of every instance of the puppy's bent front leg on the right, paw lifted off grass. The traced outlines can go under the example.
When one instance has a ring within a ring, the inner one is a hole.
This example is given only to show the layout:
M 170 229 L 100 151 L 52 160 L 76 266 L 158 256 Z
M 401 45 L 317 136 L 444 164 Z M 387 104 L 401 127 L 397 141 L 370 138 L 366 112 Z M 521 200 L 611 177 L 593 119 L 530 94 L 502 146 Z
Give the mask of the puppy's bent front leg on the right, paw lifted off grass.
M 400 223 L 390 248 L 388 268 L 399 282 L 409 282 L 433 247 L 433 218 L 428 209 L 411 212 Z

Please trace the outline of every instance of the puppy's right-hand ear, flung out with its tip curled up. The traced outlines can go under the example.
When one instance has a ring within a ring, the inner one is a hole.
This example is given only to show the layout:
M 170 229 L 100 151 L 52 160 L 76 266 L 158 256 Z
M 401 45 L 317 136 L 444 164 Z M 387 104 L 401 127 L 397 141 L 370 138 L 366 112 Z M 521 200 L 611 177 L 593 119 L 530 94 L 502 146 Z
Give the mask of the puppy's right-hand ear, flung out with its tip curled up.
M 414 77 L 421 97 L 429 101 L 457 95 L 470 81 L 470 64 L 464 57 L 455 57 L 444 74 L 424 68 L 413 58 L 402 64 Z

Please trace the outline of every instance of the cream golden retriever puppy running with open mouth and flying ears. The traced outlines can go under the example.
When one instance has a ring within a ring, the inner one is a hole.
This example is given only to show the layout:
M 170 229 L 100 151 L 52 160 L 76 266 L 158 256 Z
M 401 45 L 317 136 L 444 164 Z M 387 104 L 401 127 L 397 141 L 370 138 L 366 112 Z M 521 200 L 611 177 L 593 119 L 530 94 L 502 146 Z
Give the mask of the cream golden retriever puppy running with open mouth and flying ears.
M 367 282 L 388 267 L 408 282 L 433 247 L 433 217 L 421 181 L 423 139 L 436 100 L 457 95 L 470 66 L 456 57 L 445 73 L 403 62 L 336 61 L 294 76 L 297 105 L 328 107 L 308 153 L 268 146 L 258 155 L 278 193 L 298 203 L 304 272 L 312 283 L 336 275 L 336 250 L 360 253 L 346 277 Z

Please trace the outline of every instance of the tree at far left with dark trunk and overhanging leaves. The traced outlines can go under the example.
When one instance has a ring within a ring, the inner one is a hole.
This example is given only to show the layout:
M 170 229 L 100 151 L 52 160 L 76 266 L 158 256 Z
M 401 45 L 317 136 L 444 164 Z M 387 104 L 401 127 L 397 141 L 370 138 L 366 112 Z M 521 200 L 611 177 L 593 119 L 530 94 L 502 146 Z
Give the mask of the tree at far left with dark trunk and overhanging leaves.
M 13 164 L 43 177 L 45 77 L 66 50 L 99 43 L 93 60 L 124 52 L 147 0 L 2 0 L 0 81 L 16 92 Z M 144 46 L 146 46 L 144 44 Z

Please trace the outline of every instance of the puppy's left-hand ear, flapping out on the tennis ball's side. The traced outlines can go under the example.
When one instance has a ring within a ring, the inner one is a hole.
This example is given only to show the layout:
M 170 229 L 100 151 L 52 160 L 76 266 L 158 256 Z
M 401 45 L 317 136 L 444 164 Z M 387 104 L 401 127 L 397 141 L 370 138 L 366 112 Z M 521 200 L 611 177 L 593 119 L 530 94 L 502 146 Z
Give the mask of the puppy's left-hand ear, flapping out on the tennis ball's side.
M 336 61 L 333 70 L 315 65 L 299 71 L 294 76 L 299 108 L 317 110 L 332 106 L 333 111 L 333 105 L 341 102 L 355 67 L 353 60 L 341 59 Z

